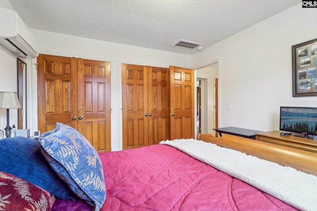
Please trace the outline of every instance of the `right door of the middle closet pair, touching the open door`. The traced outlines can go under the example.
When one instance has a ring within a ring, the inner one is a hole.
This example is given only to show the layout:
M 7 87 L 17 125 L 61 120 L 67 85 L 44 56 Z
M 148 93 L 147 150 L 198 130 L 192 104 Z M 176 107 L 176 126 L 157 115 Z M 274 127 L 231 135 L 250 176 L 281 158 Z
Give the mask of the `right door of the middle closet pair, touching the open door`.
M 169 139 L 169 70 L 148 67 L 149 145 Z

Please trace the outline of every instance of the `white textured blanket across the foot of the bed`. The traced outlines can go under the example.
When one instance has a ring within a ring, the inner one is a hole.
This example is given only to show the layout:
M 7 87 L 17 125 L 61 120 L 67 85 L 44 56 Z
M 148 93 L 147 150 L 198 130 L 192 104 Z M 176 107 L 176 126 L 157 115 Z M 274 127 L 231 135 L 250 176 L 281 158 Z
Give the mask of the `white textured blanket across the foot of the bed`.
M 317 210 L 317 176 L 195 139 L 161 141 L 292 205 Z

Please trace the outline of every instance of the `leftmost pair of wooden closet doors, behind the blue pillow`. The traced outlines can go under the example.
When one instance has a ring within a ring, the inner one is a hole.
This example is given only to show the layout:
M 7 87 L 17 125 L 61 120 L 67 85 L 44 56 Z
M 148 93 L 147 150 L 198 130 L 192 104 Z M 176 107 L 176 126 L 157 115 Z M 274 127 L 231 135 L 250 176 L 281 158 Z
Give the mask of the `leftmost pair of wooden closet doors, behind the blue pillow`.
M 110 151 L 110 63 L 41 54 L 37 72 L 39 130 L 60 122 Z

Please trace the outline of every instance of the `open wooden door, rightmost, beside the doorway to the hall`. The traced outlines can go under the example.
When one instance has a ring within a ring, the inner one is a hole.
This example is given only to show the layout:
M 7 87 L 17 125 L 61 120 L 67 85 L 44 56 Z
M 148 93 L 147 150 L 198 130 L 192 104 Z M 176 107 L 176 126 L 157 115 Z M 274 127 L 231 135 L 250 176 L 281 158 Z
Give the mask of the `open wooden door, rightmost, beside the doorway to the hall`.
M 170 139 L 195 138 L 194 70 L 169 67 Z

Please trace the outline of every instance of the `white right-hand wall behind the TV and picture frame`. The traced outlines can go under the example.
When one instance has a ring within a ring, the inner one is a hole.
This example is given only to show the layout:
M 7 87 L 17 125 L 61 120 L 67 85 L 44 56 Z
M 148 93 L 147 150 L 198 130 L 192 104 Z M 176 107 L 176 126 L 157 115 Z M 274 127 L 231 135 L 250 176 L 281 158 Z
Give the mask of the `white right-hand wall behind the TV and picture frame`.
M 219 127 L 278 130 L 280 106 L 317 107 L 292 97 L 291 60 L 292 45 L 317 38 L 316 20 L 299 3 L 192 56 L 195 68 L 219 60 Z

